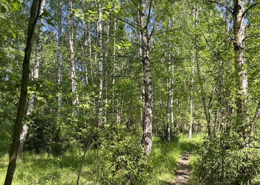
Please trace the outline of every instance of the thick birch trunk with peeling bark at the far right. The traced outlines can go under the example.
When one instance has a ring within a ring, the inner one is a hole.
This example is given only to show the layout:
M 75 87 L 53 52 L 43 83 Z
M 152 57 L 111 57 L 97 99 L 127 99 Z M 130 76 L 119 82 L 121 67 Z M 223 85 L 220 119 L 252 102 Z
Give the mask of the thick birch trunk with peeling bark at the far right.
M 237 107 L 237 127 L 239 133 L 249 146 L 248 134 L 246 128 L 250 130 L 249 109 L 248 109 L 248 82 L 246 73 L 246 49 L 245 49 L 245 16 L 244 0 L 233 1 L 233 34 L 234 34 L 234 62 L 236 72 L 236 86 L 239 90 L 236 97 Z M 241 144 L 243 145 L 243 144 Z M 242 146 L 244 147 L 244 146 Z

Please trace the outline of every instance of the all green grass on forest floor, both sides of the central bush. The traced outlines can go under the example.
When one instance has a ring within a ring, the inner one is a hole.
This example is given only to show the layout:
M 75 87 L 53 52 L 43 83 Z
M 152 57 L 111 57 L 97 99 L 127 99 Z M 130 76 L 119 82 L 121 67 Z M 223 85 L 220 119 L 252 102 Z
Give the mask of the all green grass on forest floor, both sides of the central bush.
M 188 139 L 187 135 L 179 135 L 167 143 L 158 137 L 153 137 L 153 148 L 148 159 L 152 171 L 149 178 L 143 179 L 139 185 L 170 184 L 174 180 L 177 160 L 185 151 L 193 149 L 195 147 L 193 141 L 198 142 L 200 138 L 202 136 Z M 4 183 L 9 161 L 7 148 L 10 148 L 10 143 L 0 144 L 0 184 Z M 79 153 L 76 149 L 62 156 L 25 151 L 21 153 L 17 163 L 13 185 L 75 185 L 82 155 L 83 152 Z M 80 184 L 97 184 L 96 177 L 96 153 L 95 150 L 89 150 L 81 173 Z

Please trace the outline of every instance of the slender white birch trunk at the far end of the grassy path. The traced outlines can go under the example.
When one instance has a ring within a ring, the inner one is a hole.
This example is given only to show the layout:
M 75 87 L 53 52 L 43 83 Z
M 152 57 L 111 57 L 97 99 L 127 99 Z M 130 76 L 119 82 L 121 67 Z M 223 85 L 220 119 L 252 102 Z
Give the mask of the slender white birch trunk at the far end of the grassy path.
M 190 77 L 190 128 L 189 128 L 189 138 L 192 138 L 192 123 L 193 123 L 193 75 L 194 75 L 194 54 L 192 55 L 192 73 Z

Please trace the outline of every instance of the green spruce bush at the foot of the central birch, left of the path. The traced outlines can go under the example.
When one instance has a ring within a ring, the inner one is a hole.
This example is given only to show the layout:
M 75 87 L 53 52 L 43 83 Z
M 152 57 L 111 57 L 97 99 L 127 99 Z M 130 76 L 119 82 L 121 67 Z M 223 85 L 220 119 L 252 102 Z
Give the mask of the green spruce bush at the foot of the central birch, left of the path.
M 146 154 L 140 136 L 125 134 L 125 126 L 106 127 L 101 133 L 101 182 L 104 184 L 135 184 L 147 175 Z

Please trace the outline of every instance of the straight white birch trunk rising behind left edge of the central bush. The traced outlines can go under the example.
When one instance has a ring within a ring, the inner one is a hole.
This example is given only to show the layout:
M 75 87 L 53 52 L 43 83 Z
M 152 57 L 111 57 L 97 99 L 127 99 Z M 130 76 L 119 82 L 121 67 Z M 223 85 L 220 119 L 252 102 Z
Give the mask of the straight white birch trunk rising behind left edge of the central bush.
M 100 5 L 99 5 L 100 6 Z M 99 57 L 99 69 L 98 69 L 98 83 L 99 83 L 99 101 L 101 101 L 101 93 L 102 93 L 102 73 L 103 73 L 103 53 L 102 53 L 102 9 L 99 7 L 99 20 L 97 22 L 97 32 L 98 32 L 98 47 L 100 52 L 98 52 Z M 99 106 L 98 112 L 99 116 L 101 116 L 101 106 Z M 101 125 L 101 119 L 99 121 L 99 125 Z

